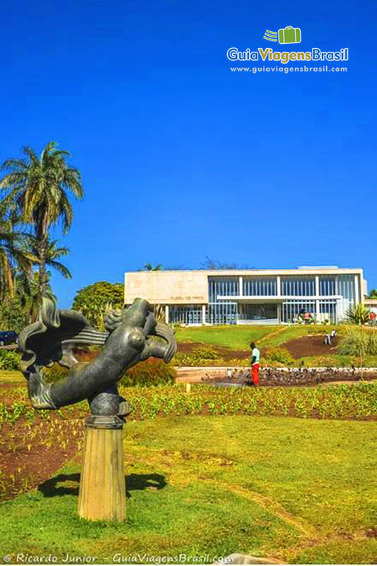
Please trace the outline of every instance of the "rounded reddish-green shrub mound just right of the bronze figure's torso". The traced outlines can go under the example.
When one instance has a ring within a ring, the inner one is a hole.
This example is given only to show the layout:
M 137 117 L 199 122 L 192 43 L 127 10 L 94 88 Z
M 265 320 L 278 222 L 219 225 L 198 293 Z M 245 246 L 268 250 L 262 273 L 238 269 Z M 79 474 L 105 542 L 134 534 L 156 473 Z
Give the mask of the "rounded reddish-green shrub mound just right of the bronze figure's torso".
M 130 368 L 120 380 L 122 386 L 156 386 L 175 382 L 175 369 L 161 359 L 147 359 L 146 362 Z

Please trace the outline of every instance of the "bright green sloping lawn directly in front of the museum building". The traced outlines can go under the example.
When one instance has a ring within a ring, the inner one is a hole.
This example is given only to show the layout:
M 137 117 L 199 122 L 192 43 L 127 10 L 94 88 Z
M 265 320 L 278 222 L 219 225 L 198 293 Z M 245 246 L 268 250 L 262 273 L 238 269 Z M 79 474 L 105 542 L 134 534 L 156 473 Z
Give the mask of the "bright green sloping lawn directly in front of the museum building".
M 233 348 L 233 350 L 249 350 L 250 342 L 257 342 L 257 345 L 261 347 L 279 346 L 288 340 L 308 334 L 328 333 L 329 328 L 334 327 L 325 325 L 199 326 L 178 328 L 175 336 L 178 342 L 203 342 Z M 341 328 L 338 328 L 339 330 Z

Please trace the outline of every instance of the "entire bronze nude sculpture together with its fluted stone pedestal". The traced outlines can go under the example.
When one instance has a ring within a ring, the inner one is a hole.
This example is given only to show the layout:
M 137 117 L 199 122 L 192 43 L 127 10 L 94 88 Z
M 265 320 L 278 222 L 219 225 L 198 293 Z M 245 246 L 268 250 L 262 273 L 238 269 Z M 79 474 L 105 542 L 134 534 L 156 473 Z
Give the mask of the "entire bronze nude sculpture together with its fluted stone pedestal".
M 18 346 L 23 352 L 21 369 L 28 380 L 28 395 L 35 409 L 58 409 L 84 399 L 88 399 L 91 407 L 93 416 L 86 422 L 83 478 L 85 470 L 93 467 L 103 468 L 97 470 L 103 473 L 103 478 L 98 480 L 98 473 L 95 476 L 97 494 L 93 486 L 84 487 L 81 481 L 79 514 L 87 519 L 123 520 L 124 512 L 119 509 L 123 503 L 125 509 L 121 433 L 128 409 L 127 401 L 118 395 L 117 381 L 124 371 L 149 357 L 170 362 L 177 345 L 173 330 L 156 321 L 153 307 L 144 299 L 135 299 L 129 308 L 108 313 L 105 328 L 108 332 L 98 332 L 81 313 L 59 310 L 52 301 L 44 299 L 40 320 L 21 331 Z M 103 345 L 103 350 L 92 362 L 79 363 L 74 357 L 74 348 L 79 345 Z M 68 374 L 56 383 L 46 383 L 42 368 L 54 362 L 67 367 Z M 88 447 L 89 429 L 94 429 L 95 441 L 91 439 Z M 102 436 L 97 434 L 100 430 Z M 120 434 L 106 436 L 105 432 Z M 98 461 L 98 454 L 102 455 L 102 461 Z M 118 477 L 111 478 L 108 468 L 114 468 L 112 475 Z M 93 471 L 87 475 L 91 478 Z M 113 501 L 107 507 L 104 501 L 103 507 L 93 510 L 90 502 L 96 503 L 95 498 L 105 499 L 107 492 Z

